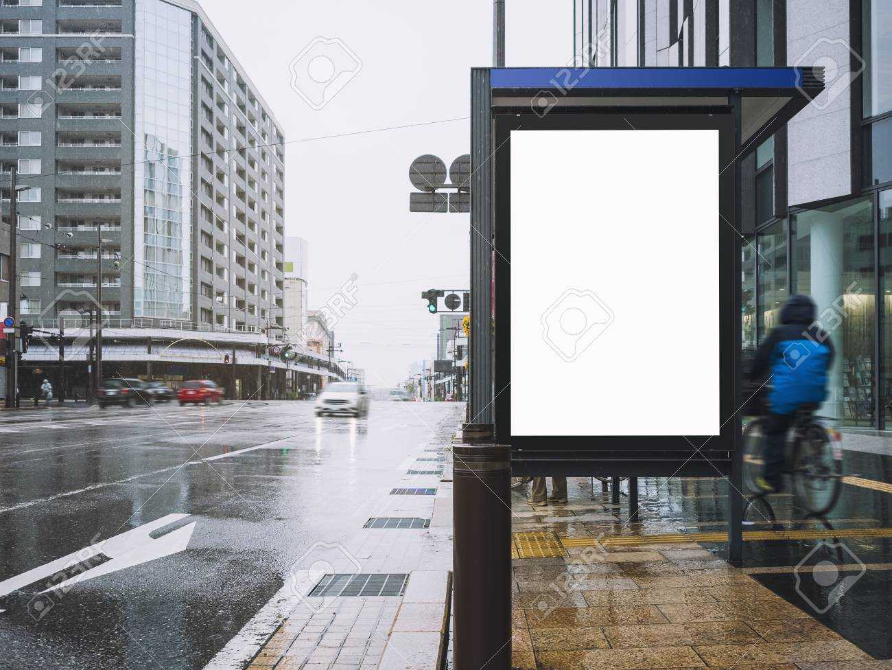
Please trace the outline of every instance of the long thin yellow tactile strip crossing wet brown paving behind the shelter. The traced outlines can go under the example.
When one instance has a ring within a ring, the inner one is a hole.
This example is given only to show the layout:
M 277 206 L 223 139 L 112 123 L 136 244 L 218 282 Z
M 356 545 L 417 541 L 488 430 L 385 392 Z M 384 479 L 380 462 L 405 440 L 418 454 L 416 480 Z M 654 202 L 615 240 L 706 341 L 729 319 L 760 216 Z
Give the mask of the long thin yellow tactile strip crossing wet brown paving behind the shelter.
M 892 528 L 838 528 L 836 530 L 747 531 L 744 542 L 772 540 L 819 540 L 843 537 L 892 537 Z M 727 542 L 727 533 L 677 533 L 665 535 L 617 535 L 615 537 L 565 537 L 565 547 L 635 547 L 641 544 L 674 544 L 680 542 Z

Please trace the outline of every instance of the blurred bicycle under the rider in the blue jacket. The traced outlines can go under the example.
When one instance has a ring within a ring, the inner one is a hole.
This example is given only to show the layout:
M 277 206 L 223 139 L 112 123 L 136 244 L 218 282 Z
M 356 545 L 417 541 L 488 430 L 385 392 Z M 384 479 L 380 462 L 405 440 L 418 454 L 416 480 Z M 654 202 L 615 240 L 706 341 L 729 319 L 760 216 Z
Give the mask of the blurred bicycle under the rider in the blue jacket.
M 787 462 L 784 474 L 792 481 L 794 495 L 815 516 L 833 509 L 842 493 L 842 435 L 820 423 L 814 416 L 817 405 L 799 409 L 787 434 Z M 743 485 L 753 496 L 763 497 L 756 485 L 764 465 L 764 416 L 753 418 L 743 430 Z

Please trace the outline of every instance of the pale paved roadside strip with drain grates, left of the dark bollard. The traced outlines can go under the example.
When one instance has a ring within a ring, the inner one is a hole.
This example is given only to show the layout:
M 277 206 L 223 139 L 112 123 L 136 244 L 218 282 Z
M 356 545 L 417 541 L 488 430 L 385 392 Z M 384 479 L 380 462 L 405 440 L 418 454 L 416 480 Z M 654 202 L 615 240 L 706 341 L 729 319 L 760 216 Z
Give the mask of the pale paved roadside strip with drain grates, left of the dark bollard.
M 367 525 L 343 546 L 317 543 L 326 556 L 296 566 L 292 581 L 205 670 L 439 670 L 449 641 L 450 441 L 459 421 L 457 413 L 437 426 L 394 473 L 393 488 L 370 501 L 369 520 L 385 527 Z M 335 594 L 307 597 L 318 590 L 314 584 L 326 584 L 326 574 L 335 575 L 328 583 L 341 584 Z M 357 574 L 361 583 L 351 579 Z M 394 584 L 402 588 L 367 595 Z

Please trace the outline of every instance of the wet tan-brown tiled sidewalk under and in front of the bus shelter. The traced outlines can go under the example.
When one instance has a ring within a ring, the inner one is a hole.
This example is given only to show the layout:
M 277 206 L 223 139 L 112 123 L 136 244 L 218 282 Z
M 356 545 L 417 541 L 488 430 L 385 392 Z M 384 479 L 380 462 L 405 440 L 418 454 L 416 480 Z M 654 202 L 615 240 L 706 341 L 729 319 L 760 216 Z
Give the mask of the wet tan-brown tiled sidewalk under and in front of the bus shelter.
M 627 523 L 625 498 L 611 505 L 596 485 L 591 500 L 588 480 L 568 483 L 562 506 L 512 494 L 516 668 L 892 668 L 752 576 L 790 568 L 734 568 L 683 538 L 648 543 L 642 531 L 677 527 Z

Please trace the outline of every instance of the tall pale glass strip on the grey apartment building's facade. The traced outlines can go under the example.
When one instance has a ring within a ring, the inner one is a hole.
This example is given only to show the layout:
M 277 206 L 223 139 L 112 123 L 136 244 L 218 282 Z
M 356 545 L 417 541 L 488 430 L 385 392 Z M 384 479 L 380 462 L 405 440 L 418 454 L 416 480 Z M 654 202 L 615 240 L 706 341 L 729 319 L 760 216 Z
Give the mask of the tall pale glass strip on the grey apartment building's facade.
M 137 0 L 137 317 L 191 317 L 192 52 L 191 12 Z

